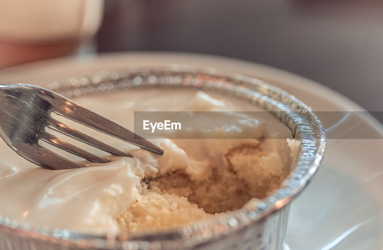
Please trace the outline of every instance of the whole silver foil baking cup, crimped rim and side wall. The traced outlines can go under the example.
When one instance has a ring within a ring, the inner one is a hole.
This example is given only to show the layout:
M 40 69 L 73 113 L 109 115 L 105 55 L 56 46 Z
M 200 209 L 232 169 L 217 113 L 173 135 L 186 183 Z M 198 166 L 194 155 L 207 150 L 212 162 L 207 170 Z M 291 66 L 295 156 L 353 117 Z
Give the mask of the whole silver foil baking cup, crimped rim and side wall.
M 290 128 L 295 139 L 301 140 L 300 153 L 290 175 L 272 195 L 263 200 L 250 200 L 246 208 L 222 216 L 156 232 L 94 235 L 34 227 L 0 215 L 0 249 L 283 249 L 290 203 L 318 170 L 326 145 L 322 123 L 306 104 L 282 89 L 249 76 L 185 65 L 101 71 L 45 87 L 68 98 L 131 88 L 194 88 L 220 92 L 275 115 Z

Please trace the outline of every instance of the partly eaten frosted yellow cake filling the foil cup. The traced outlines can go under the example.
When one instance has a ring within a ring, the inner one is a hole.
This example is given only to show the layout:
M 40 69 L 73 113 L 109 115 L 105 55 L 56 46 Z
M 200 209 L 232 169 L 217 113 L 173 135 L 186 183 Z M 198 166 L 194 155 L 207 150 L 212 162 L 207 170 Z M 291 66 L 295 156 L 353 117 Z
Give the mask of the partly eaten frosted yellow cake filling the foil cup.
M 270 195 L 289 174 L 299 146 L 279 139 L 291 132 L 271 114 L 251 117 L 247 111 L 261 109 L 217 93 L 134 89 L 73 100 L 130 129 L 140 110 L 228 112 L 232 123 L 191 128 L 188 133 L 198 139 L 167 138 L 167 133 L 153 138 L 164 156 L 104 137 L 133 157 L 108 156 L 110 163 L 84 162 L 92 167 L 82 169 L 46 170 L 1 143 L 0 214 L 33 226 L 97 233 L 183 226 Z M 216 138 L 204 139 L 211 134 Z

